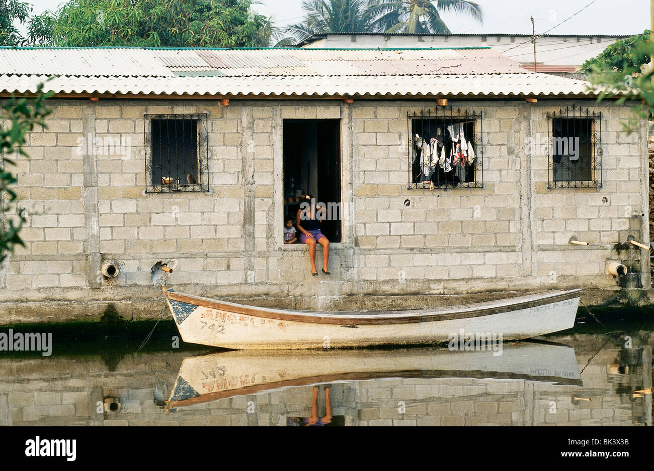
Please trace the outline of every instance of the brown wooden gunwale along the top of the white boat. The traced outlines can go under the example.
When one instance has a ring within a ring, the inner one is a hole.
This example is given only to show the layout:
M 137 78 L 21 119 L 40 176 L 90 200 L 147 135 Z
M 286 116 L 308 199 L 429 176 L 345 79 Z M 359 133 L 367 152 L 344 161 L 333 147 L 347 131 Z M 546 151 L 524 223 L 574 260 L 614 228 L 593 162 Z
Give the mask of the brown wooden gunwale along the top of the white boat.
M 233 314 L 285 320 L 288 322 L 304 322 L 308 324 L 337 324 L 343 326 L 358 326 L 368 324 L 415 324 L 420 322 L 435 322 L 441 320 L 454 320 L 502 314 L 504 312 L 519 311 L 543 305 L 553 304 L 568 299 L 581 297 L 582 290 L 555 290 L 541 294 L 531 294 L 513 298 L 483 301 L 463 306 L 441 307 L 437 309 L 413 309 L 396 311 L 388 314 L 383 311 L 365 311 L 365 314 L 356 314 L 353 311 L 337 314 L 334 312 L 292 311 L 258 306 L 242 305 L 229 301 L 217 301 L 209 297 L 192 294 L 166 291 L 167 299 L 180 301 L 207 309 L 218 309 Z M 169 308 L 172 307 L 169 305 Z M 375 312 L 378 312 L 375 314 Z M 174 317 L 174 316 L 173 316 Z

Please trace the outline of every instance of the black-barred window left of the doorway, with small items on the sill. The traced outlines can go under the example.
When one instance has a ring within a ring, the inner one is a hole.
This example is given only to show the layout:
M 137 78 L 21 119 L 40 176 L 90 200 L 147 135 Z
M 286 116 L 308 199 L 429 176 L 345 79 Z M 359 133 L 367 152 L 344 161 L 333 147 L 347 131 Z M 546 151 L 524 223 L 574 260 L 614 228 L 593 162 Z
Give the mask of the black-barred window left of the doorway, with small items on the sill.
M 206 114 L 145 115 L 146 193 L 209 190 Z

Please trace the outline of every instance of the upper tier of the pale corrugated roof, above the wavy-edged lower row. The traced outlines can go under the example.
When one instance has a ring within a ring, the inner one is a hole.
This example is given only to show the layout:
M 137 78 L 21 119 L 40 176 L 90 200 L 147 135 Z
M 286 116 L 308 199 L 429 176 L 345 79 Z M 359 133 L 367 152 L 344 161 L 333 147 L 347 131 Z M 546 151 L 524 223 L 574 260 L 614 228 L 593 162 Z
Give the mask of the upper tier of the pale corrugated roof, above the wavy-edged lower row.
M 137 49 L 0 48 L 0 74 L 172 76 L 171 69 L 226 76 L 519 73 L 488 48 L 462 49 Z

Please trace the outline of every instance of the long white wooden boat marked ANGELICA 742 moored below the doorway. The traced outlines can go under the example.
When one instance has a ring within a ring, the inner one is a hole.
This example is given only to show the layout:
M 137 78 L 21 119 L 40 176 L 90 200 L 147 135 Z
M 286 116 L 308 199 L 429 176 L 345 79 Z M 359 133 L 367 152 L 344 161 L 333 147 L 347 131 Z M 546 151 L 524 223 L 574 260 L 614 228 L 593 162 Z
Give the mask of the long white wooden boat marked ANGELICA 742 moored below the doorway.
M 436 344 L 487 334 L 528 339 L 572 328 L 581 297 L 581 290 L 550 291 L 459 307 L 313 312 L 164 292 L 184 342 L 235 350 Z

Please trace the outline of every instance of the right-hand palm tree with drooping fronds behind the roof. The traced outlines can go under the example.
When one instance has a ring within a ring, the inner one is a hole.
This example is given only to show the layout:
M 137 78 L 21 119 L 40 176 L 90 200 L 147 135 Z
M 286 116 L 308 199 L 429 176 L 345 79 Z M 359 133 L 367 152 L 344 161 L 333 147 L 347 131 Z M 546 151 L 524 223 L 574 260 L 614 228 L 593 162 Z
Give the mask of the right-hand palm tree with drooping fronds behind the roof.
M 368 15 L 379 33 L 451 34 L 440 12 L 468 14 L 481 23 L 481 7 L 468 0 L 371 0 Z

